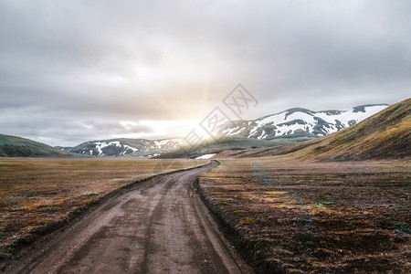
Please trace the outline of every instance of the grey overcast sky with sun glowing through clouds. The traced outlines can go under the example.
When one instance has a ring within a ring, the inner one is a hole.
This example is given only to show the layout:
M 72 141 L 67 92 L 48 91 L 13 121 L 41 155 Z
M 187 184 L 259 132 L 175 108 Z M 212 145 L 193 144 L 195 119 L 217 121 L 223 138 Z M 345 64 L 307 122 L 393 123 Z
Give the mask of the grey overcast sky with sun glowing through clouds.
M 258 118 L 410 97 L 411 1 L 0 0 L 0 132 L 184 137 L 241 83 Z

